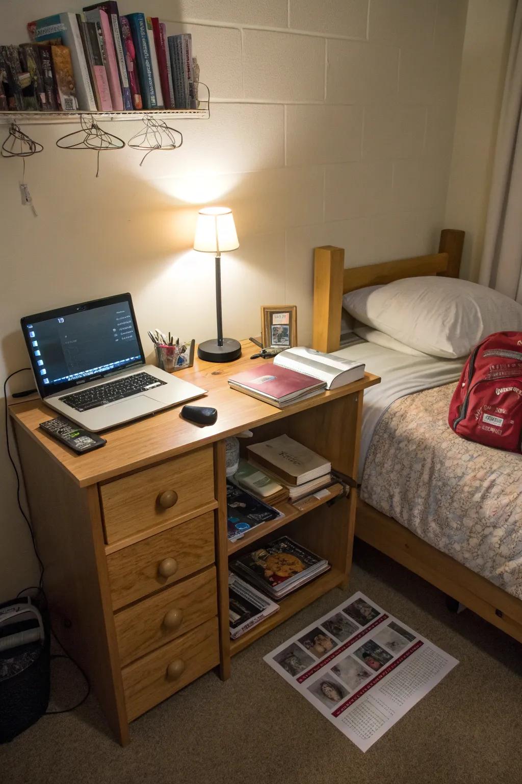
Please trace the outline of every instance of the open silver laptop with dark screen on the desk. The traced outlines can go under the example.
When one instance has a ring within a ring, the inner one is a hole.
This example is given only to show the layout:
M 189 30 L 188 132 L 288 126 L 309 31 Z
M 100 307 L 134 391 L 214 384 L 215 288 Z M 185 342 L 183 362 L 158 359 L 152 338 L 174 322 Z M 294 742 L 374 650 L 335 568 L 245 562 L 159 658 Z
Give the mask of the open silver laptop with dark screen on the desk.
M 20 319 L 45 405 L 99 432 L 207 390 L 146 365 L 130 294 Z

